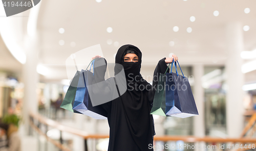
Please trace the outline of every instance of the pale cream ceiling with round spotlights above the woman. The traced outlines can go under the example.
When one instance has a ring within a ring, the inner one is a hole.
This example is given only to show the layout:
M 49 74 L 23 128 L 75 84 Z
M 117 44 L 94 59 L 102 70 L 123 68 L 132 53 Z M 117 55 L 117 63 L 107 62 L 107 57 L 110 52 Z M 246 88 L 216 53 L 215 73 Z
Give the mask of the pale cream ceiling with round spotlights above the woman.
M 245 8 L 250 8 L 250 13 L 246 14 Z M 216 10 L 219 16 L 213 15 Z M 196 20 L 191 22 L 190 16 Z M 176 54 L 185 66 L 224 65 L 228 57 L 227 25 L 240 22 L 242 27 L 250 27 L 243 33 L 244 50 L 251 51 L 256 48 L 255 19 L 255 0 L 43 0 L 37 23 L 39 63 L 65 74 L 66 59 L 83 48 L 100 44 L 104 58 L 113 63 L 121 45 L 133 44 L 142 51 L 142 64 L 152 70 L 169 53 Z M 175 26 L 179 27 L 178 32 L 173 31 Z M 106 32 L 108 27 L 113 28 L 112 33 Z M 191 33 L 186 31 L 188 27 L 192 28 Z M 64 28 L 65 33 L 60 34 L 59 28 Z M 112 44 L 107 43 L 109 39 Z M 65 44 L 59 45 L 59 40 Z M 115 46 L 116 41 L 119 44 Z M 174 46 L 169 45 L 170 41 Z M 72 47 L 71 42 L 76 45 Z

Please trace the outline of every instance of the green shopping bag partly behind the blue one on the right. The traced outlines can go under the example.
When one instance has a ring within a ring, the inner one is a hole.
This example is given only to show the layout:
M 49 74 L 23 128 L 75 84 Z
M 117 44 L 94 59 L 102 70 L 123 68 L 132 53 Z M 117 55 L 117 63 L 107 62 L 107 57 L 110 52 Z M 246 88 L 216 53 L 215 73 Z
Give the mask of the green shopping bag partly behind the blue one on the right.
M 150 114 L 165 115 L 165 74 L 160 73 Z

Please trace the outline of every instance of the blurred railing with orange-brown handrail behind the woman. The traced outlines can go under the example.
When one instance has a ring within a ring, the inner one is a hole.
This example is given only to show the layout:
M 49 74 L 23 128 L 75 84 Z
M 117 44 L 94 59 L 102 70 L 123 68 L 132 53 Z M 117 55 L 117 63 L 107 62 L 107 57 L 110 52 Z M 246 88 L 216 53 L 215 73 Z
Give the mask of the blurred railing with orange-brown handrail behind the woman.
M 247 123 L 242 136 L 245 136 L 245 134 L 255 125 L 256 121 L 256 114 L 253 114 L 251 117 L 251 120 Z M 45 132 L 42 132 L 39 127 L 40 125 L 43 124 L 45 125 Z M 46 139 L 54 144 L 56 147 L 58 147 L 60 150 L 65 150 L 65 151 L 72 151 L 70 148 L 65 146 L 63 144 L 62 140 L 62 132 L 68 132 L 77 136 L 80 136 L 84 139 L 84 146 L 85 150 L 88 151 L 88 145 L 87 145 L 87 140 L 92 138 L 92 139 L 100 139 L 100 138 L 108 138 L 109 135 L 90 135 L 87 132 L 77 130 L 74 128 L 67 127 L 65 125 L 62 125 L 54 120 L 42 117 L 39 114 L 34 114 L 30 113 L 30 125 L 31 127 L 40 135 L 45 136 Z M 47 131 L 48 127 L 58 129 L 60 131 L 60 139 L 59 141 L 56 141 L 54 139 L 51 139 L 50 137 L 47 136 Z M 182 140 L 184 142 L 206 142 L 206 143 L 253 143 L 254 145 L 256 144 L 256 138 L 214 138 L 214 137 L 195 137 L 195 136 L 154 136 L 154 141 L 179 141 Z M 244 149 L 239 149 L 239 150 L 244 150 Z

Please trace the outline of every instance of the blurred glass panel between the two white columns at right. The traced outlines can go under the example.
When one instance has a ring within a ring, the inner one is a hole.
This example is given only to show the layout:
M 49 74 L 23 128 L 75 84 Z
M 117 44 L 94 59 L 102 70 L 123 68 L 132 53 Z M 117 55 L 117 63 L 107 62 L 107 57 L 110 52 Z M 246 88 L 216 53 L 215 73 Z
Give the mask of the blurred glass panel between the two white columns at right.
M 226 135 L 226 93 L 224 67 L 204 67 L 206 135 Z

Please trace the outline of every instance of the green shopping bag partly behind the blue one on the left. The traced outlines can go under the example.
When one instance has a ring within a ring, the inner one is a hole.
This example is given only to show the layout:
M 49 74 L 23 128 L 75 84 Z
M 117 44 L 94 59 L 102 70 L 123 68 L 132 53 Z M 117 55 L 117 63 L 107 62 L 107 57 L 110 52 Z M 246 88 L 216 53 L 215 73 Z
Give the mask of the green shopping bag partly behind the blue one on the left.
M 79 113 L 79 112 L 72 109 L 73 105 L 74 105 L 74 101 L 75 101 L 76 86 L 78 84 L 79 75 L 80 75 L 80 71 L 76 71 L 75 76 L 72 79 L 71 84 L 68 88 L 68 91 L 65 95 L 65 98 L 63 99 L 63 102 L 60 105 L 60 108 L 69 110 L 69 111 L 74 112 L 74 113 Z

